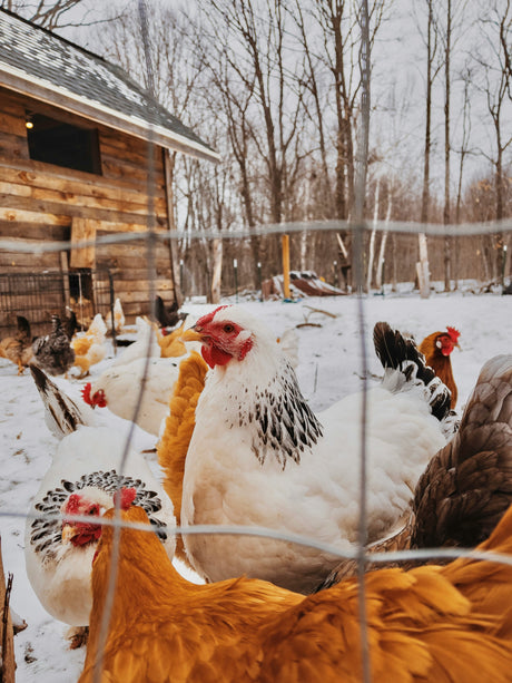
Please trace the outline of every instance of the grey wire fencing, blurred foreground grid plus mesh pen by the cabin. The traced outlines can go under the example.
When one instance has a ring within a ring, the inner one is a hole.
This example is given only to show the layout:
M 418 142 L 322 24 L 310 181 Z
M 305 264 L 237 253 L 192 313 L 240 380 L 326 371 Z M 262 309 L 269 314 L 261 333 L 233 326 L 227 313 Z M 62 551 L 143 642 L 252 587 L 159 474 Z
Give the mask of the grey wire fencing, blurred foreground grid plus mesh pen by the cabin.
M 142 1 L 139 1 L 140 8 L 140 21 L 142 29 L 142 38 L 147 41 L 147 18 L 146 18 L 146 7 Z M 146 28 L 145 28 L 146 27 Z M 148 49 L 145 43 L 145 53 L 147 59 L 147 70 L 148 70 L 148 82 L 149 85 L 152 82 L 151 75 L 151 65 L 149 62 Z M 151 139 L 149 140 L 149 146 L 151 146 Z M 149 159 L 154 159 L 155 155 L 149 154 Z M 154 170 L 151 167 L 148 168 L 148 196 L 154 197 L 155 191 L 152 187 L 154 184 Z M 151 199 L 152 201 L 152 199 Z M 147 226 L 146 233 L 146 245 L 147 245 L 147 271 L 149 282 L 152 283 L 155 277 L 155 267 L 154 267 L 154 251 L 155 244 L 157 241 L 178 241 L 183 238 L 178 232 L 170 232 L 166 234 L 156 233 L 154 231 L 152 225 L 152 216 L 154 211 L 152 207 L 148 207 L 149 222 Z M 426 235 L 432 236 L 471 236 L 471 235 L 493 235 L 493 234 L 506 234 L 510 235 L 512 233 L 512 219 L 505 219 L 502 222 L 493 222 L 493 223 L 480 223 L 480 224 L 461 224 L 461 225 L 433 225 L 433 224 L 419 224 L 413 222 L 406 223 L 395 223 L 395 222 L 374 222 L 372 224 L 364 223 L 361 221 L 357 225 L 354 225 L 352 222 L 345 221 L 326 221 L 326 222 L 301 222 L 301 223 L 284 223 L 284 224 L 272 224 L 272 225 L 262 225 L 257 228 L 253 228 L 250 231 L 240 230 L 240 231 L 232 231 L 227 234 L 216 233 L 211 231 L 208 234 L 204 232 L 188 232 L 187 238 L 189 241 L 214 241 L 214 240 L 229 240 L 229 241 L 243 241 L 255 235 L 269 235 L 269 234 L 294 234 L 294 233 L 303 233 L 303 232 L 323 232 L 323 231 L 343 231 L 343 232 L 352 232 L 355 236 L 362 236 L 368 231 L 376 231 L 377 233 L 401 233 L 401 234 L 411 234 L 417 235 L 419 233 L 424 233 Z M 129 244 L 131 241 L 141 238 L 141 234 L 132 234 L 132 233 L 118 233 L 118 234 L 108 234 L 97 236 L 95 240 L 90 242 L 83 241 L 80 243 L 80 248 L 91 246 L 108 246 L 111 244 Z M 366 257 L 363 246 L 362 240 L 354 238 L 354 253 L 353 258 L 354 263 L 361 267 L 358 267 L 358 275 L 356 282 L 356 295 L 358 292 L 363 290 L 363 263 Z M 23 244 L 18 241 L 2 238 L 0 240 L 0 250 L 4 252 L 16 251 L 16 252 L 27 252 L 32 254 L 35 257 L 43 252 L 62 252 L 69 251 L 71 248 L 69 242 L 41 242 L 38 245 L 33 244 Z M 175 273 L 175 276 L 177 274 Z M 66 287 L 71 287 L 73 291 L 80 290 L 81 280 L 76 283 L 72 283 L 69 280 L 68 284 L 65 286 L 65 281 L 61 275 L 56 274 L 45 274 L 45 275 L 23 275 L 24 280 L 20 280 L 21 276 L 17 275 L 0 275 L 0 332 L 3 334 L 4 330 L 8 330 L 9 325 L 12 326 L 13 322 L 11 320 L 12 313 L 17 312 L 20 314 L 29 313 L 31 319 L 36 322 L 37 325 L 46 325 L 48 323 L 49 312 L 55 310 L 62 311 L 66 306 L 66 302 L 69 300 L 69 291 L 66 292 Z M 23 296 L 20 297 L 20 291 L 23 292 Z M 83 292 L 79 292 L 79 295 L 83 294 Z M 114 284 L 110 275 L 107 272 L 98 272 L 96 273 L 96 277 L 93 279 L 93 287 L 92 291 L 89 292 L 92 295 L 93 302 L 93 311 L 101 312 L 105 314 L 107 311 L 111 312 L 111 306 L 114 303 Z M 151 289 L 149 292 L 149 300 L 154 301 L 155 290 Z M 83 296 L 87 299 L 87 296 Z M 38 318 L 39 315 L 39 318 Z M 361 331 L 361 344 L 362 344 L 362 357 L 363 357 L 363 368 L 361 369 L 362 374 L 365 375 L 367 372 L 367 358 L 368 351 L 366 348 L 366 343 L 364 341 L 364 330 L 366 329 L 366 316 L 365 316 L 365 300 L 363 296 L 358 296 L 358 308 L 357 308 L 360 331 Z M 148 342 L 148 351 L 149 351 L 150 340 Z M 145 391 L 145 380 L 147 377 L 148 364 L 149 364 L 149 352 L 147 354 L 147 363 L 145 369 L 145 379 L 141 381 L 139 391 L 139 400 L 137 402 L 137 409 L 132 416 L 132 427 L 137 420 L 137 412 L 140 409 L 142 394 Z M 364 510 L 363 500 L 365 497 L 365 491 L 367 487 L 366 481 L 366 470 L 365 470 L 365 433 L 366 433 L 366 410 L 367 407 L 364 404 L 363 407 L 363 420 L 361 423 L 361 432 L 363 436 L 362 443 L 363 449 L 361 452 L 361 507 Z M 128 438 L 125 443 L 124 455 L 119 467 L 119 475 L 122 476 L 126 471 L 126 462 L 127 457 L 131 447 L 131 438 L 132 430 L 129 432 Z M 117 530 L 122 526 L 120 521 L 120 509 L 119 501 L 116 505 L 116 518 L 112 521 L 104 521 L 102 524 L 109 524 L 115 526 Z M 19 517 L 20 519 L 27 518 L 26 510 L 0 510 L 0 517 Z M 33 517 L 36 518 L 36 517 Z M 38 518 L 43 518 L 45 520 L 55 519 L 55 515 L 50 514 L 40 514 Z M 59 520 L 61 520 L 61 516 L 58 516 Z M 88 521 L 88 518 L 77 516 L 76 520 L 78 521 Z M 151 529 L 145 525 L 135 526 L 138 530 L 150 531 Z M 360 540 L 354 544 L 353 549 L 351 552 L 342 552 L 338 547 L 332 546 L 328 544 L 319 543 L 318 539 L 315 538 L 305 538 L 302 536 L 285 534 L 277 531 L 275 529 L 268 528 L 258 528 L 258 527 L 227 527 L 227 526 L 187 526 L 187 527 L 175 527 L 173 529 L 168 529 L 170 534 L 179 533 L 183 535 L 186 534 L 236 534 L 236 535 L 249 535 L 249 536 L 264 536 L 274 540 L 299 544 L 303 546 L 308 546 L 311 548 L 316 548 L 319 552 L 329 554 L 334 557 L 338 557 L 342 559 L 352 559 L 356 560 L 360 567 L 358 580 L 362 584 L 361 579 L 365 572 L 365 567 L 368 560 L 372 563 L 387 563 L 387 562 L 398 562 L 398 560 L 426 560 L 426 559 L 446 559 L 446 558 L 456 558 L 456 557 L 472 557 L 475 559 L 488 559 L 490 562 L 500 562 L 508 565 L 512 565 L 512 557 L 503 557 L 492 553 L 482 553 L 475 552 L 471 549 L 464 548 L 430 548 L 430 549 L 411 549 L 403 552 L 390 552 L 382 554 L 371 554 L 367 550 L 365 543 L 365 529 L 366 524 L 363 517 L 361 524 L 361 534 Z M 119 534 L 115 535 L 115 550 L 119 548 Z M 110 608 L 114 599 L 114 592 L 116 587 L 116 582 L 118 579 L 118 565 L 117 563 L 112 564 L 112 573 L 109 578 L 109 598 L 107 608 L 104 613 L 104 623 L 102 623 L 102 633 L 101 640 L 105 643 L 108 634 L 108 625 L 110 618 Z M 364 601 L 364 593 L 361 594 L 362 599 Z M 364 606 L 364 605 L 363 605 Z M 361 612 L 362 615 L 362 641 L 363 647 L 362 652 L 364 653 L 365 663 L 363 666 L 364 676 L 363 680 L 365 683 L 371 681 L 371 648 L 367 645 L 367 634 L 366 634 L 366 625 L 364 619 L 364 609 Z M 97 663 L 96 670 L 96 681 L 100 681 L 101 677 L 101 661 Z

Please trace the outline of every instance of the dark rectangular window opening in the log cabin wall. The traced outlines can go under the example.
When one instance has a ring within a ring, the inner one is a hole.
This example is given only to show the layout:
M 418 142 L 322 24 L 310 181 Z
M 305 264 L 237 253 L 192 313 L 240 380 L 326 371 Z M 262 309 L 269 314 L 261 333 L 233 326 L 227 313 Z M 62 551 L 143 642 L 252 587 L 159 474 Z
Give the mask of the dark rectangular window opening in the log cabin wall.
M 27 114 L 30 158 L 75 170 L 101 174 L 98 130 L 65 124 L 43 114 Z

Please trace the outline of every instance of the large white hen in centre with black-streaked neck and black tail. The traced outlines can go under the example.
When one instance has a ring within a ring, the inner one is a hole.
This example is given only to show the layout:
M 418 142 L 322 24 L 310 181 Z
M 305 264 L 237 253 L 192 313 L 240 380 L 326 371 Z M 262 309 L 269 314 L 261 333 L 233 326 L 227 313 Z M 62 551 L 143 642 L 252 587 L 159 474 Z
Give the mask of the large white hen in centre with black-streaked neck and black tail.
M 360 517 L 361 397 L 315 416 L 274 336 L 238 306 L 203 316 L 184 339 L 201 340 L 211 370 L 186 456 L 181 525 L 256 525 L 349 549 Z M 413 342 L 384 323 L 376 349 L 386 371 L 367 394 L 370 541 L 395 526 L 444 446 L 450 398 Z M 207 580 L 248 574 L 304 593 L 338 562 L 248 536 L 186 535 L 184 543 Z

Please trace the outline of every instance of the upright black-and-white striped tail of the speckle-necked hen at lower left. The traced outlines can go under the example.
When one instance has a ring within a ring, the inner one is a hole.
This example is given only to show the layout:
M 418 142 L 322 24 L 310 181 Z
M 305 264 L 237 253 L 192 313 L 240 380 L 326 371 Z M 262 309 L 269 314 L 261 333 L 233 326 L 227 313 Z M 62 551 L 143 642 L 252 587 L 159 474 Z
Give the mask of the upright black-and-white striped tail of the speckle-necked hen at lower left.
M 45 404 L 46 423 L 58 439 L 76 431 L 80 425 L 90 422 L 83 410 L 60 391 L 46 372 L 35 364 L 30 365 L 30 372 Z

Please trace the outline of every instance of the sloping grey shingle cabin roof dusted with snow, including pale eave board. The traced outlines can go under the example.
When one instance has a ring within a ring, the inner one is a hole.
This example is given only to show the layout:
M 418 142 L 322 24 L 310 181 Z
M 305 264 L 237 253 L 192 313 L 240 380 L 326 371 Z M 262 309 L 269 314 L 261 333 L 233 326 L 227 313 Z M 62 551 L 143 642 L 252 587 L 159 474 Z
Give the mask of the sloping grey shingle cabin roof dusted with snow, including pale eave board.
M 219 160 L 124 69 L 3 9 L 0 85 L 168 149 Z

